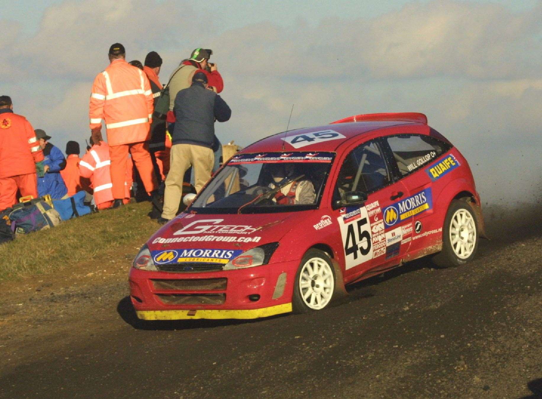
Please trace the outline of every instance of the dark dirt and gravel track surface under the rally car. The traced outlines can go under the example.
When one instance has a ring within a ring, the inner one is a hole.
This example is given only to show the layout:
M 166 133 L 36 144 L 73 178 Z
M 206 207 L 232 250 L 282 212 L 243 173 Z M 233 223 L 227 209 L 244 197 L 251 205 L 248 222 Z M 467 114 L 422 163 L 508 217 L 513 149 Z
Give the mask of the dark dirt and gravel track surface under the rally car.
M 0 398 L 542 398 L 542 232 L 521 223 L 493 216 L 463 267 L 418 259 L 257 321 L 139 325 L 133 246 L 1 284 Z

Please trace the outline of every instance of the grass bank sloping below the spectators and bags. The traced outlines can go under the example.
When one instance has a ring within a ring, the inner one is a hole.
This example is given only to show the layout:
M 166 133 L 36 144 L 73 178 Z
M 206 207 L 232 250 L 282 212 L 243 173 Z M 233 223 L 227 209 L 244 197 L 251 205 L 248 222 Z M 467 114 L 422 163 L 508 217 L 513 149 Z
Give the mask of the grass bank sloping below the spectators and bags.
M 18 236 L 0 245 L 0 281 L 52 273 L 88 262 L 104 262 L 115 249 L 133 244 L 133 252 L 158 230 L 147 217 L 149 202 L 128 204 L 67 220 L 54 229 Z

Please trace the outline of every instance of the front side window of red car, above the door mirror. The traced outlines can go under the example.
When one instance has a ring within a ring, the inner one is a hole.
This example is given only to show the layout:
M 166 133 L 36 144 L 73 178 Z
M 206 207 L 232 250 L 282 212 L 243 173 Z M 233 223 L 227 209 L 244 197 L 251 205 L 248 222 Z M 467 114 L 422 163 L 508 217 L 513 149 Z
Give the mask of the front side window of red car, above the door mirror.
M 344 199 L 349 191 L 371 193 L 390 182 L 388 167 L 377 141 L 358 145 L 340 168 L 334 199 Z

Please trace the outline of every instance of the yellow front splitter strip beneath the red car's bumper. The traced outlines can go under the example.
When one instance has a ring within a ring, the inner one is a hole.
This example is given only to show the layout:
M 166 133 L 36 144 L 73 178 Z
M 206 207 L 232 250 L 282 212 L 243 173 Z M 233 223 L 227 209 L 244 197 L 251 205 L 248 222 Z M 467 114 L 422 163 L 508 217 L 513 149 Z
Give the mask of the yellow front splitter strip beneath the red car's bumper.
M 261 309 L 199 309 L 197 311 L 136 311 L 141 320 L 257 319 L 292 312 L 292 303 Z M 189 315 L 190 313 L 190 315 Z

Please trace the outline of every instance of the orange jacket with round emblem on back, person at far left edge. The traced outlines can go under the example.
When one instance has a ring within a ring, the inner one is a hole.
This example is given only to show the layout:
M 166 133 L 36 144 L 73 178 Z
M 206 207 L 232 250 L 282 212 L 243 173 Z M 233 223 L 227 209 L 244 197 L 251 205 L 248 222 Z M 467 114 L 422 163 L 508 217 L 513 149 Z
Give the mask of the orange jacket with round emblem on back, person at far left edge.
M 36 173 L 43 152 L 24 116 L 0 110 L 0 179 Z

